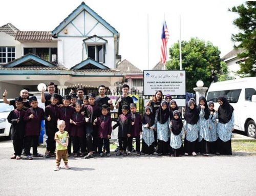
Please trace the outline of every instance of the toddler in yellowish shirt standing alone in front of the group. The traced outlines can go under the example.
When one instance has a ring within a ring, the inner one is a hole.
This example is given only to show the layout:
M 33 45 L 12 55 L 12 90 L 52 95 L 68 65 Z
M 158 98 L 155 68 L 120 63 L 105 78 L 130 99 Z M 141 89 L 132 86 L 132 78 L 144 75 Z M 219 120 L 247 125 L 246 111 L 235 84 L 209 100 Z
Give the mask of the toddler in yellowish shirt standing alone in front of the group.
M 54 139 L 56 141 L 56 168 L 54 171 L 60 169 L 60 161 L 63 159 L 65 169 L 70 169 L 68 165 L 68 145 L 69 145 L 69 134 L 65 131 L 65 121 L 59 120 L 57 123 L 58 132 L 55 133 Z

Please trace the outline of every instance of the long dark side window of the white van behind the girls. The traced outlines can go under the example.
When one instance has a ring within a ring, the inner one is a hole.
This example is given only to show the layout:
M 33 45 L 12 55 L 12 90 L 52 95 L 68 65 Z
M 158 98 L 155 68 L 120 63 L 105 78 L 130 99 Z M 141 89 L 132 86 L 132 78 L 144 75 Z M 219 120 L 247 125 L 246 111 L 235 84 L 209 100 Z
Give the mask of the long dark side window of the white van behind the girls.
M 207 102 L 213 101 L 216 103 L 218 101 L 218 97 L 223 96 L 229 103 L 237 103 L 241 90 L 242 89 L 209 92 Z

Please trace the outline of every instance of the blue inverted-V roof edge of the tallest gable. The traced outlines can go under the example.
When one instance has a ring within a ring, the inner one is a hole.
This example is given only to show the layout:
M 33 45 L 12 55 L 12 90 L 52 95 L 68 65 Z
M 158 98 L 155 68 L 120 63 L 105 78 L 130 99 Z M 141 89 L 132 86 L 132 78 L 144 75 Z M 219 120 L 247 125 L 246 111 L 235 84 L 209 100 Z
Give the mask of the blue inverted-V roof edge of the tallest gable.
M 65 28 L 77 15 L 79 15 L 83 10 L 91 14 L 96 20 L 99 21 L 105 28 L 110 30 L 113 34 L 118 34 L 118 31 L 107 23 L 101 16 L 99 16 L 95 11 L 93 11 L 89 6 L 82 2 L 73 12 L 71 12 L 68 17 L 66 17 L 53 31 L 52 34 L 56 36 L 63 28 Z

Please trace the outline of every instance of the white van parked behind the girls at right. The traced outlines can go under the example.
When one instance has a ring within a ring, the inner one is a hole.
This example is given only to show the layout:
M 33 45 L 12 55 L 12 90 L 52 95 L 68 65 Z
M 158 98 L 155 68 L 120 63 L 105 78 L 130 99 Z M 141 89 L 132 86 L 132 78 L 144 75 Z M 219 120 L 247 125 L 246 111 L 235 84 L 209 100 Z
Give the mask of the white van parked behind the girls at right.
M 234 129 L 256 138 L 256 77 L 212 83 L 206 100 L 215 103 L 215 110 L 219 107 L 219 96 L 224 96 L 234 108 Z

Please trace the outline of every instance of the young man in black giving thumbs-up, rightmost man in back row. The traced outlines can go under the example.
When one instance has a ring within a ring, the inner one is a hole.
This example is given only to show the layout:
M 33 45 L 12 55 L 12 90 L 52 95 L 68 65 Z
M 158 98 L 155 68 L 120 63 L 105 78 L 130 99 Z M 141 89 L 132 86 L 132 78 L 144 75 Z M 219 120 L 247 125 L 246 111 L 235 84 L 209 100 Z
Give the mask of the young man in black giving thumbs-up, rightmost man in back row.
M 116 108 L 118 109 L 118 116 L 122 114 L 122 106 L 123 105 L 130 105 L 130 103 L 133 103 L 133 98 L 128 96 L 130 86 L 127 84 L 123 84 L 122 86 L 122 92 L 123 94 L 116 99 Z M 131 113 L 131 111 L 129 111 Z

